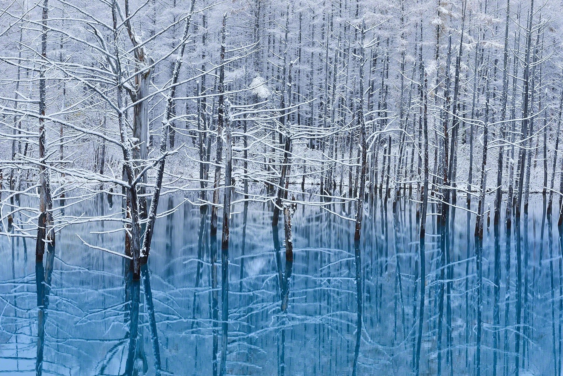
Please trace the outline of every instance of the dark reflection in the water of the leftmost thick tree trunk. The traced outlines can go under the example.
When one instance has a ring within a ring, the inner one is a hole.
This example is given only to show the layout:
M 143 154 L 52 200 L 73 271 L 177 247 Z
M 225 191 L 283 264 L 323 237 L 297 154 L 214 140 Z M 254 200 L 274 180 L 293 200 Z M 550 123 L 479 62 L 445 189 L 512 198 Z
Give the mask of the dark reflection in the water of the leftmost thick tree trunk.
M 55 261 L 55 248 L 47 246 L 45 267 L 43 262 L 35 263 L 35 285 L 37 287 L 37 359 L 35 361 L 35 374 L 43 374 L 43 351 L 45 347 L 45 324 L 47 323 L 47 310 L 49 307 L 49 293 L 51 292 L 51 277 L 53 262 Z

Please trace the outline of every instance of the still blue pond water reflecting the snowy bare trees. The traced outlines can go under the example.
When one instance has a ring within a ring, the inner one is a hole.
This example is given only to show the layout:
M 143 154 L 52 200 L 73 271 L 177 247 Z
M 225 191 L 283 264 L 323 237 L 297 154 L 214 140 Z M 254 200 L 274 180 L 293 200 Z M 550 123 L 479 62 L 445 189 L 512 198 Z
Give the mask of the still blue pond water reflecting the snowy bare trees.
M 416 364 L 421 375 L 513 375 L 516 364 L 521 375 L 560 372 L 561 229 L 540 195 L 510 232 L 504 218 L 485 229 L 479 270 L 475 217 L 455 209 L 448 226 L 428 217 L 422 333 L 421 243 L 409 200 L 396 214 L 390 203 L 368 202 L 357 247 L 353 222 L 300 205 L 293 262 L 283 226 L 272 232 L 271 208 L 237 203 L 228 266 L 221 234 L 209 236 L 209 213 L 183 196 L 163 198 L 160 209 L 175 207 L 158 221 L 140 281 L 123 259 L 77 237 L 123 252 L 122 233 L 92 233 L 117 222 L 65 227 L 38 265 L 33 239 L 0 239 L 0 373 L 404 375 Z M 100 197 L 65 214 L 119 211 L 116 199 L 110 207 Z

